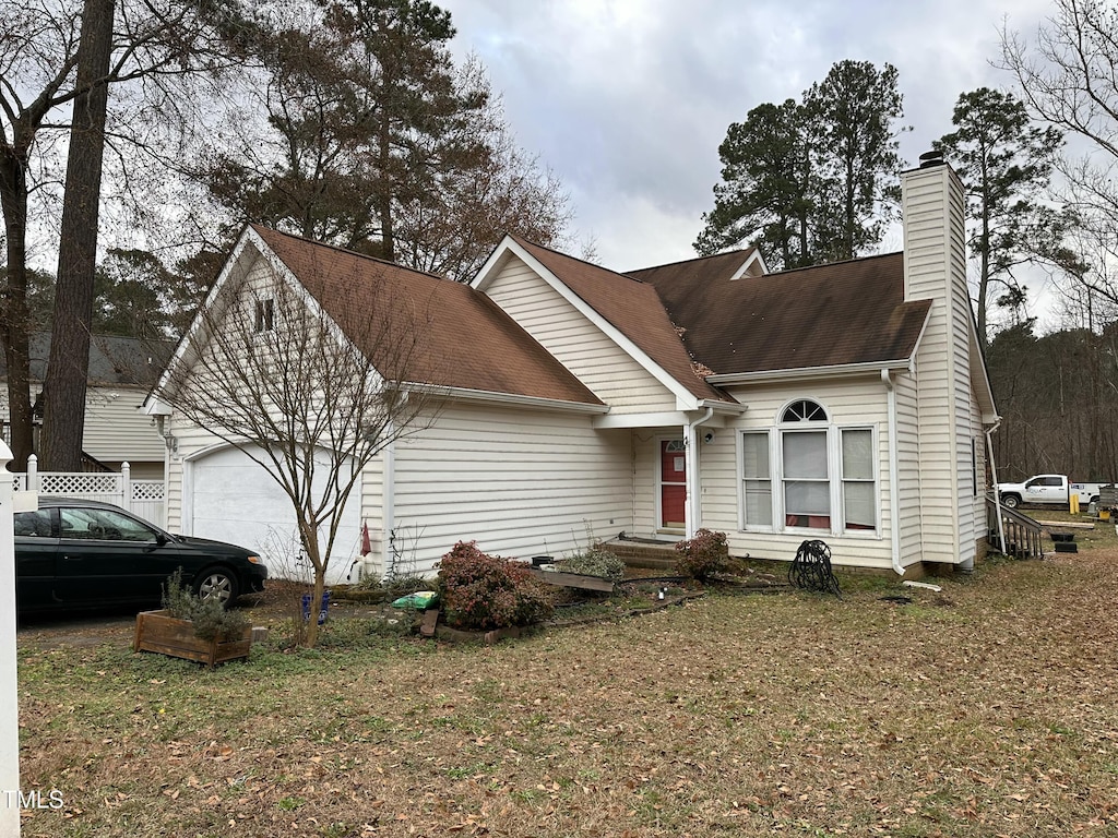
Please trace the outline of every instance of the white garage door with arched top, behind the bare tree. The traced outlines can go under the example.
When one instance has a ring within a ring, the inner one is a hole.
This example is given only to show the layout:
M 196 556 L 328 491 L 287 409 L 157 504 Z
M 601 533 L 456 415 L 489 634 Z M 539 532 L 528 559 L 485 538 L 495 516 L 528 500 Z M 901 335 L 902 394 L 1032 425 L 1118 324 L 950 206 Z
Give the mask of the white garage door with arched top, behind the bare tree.
M 329 455 L 315 457 L 315 483 L 322 483 Z M 310 563 L 301 556 L 299 530 L 291 501 L 272 477 L 238 448 L 224 448 L 193 460 L 184 485 L 183 532 L 259 551 L 272 577 L 310 579 Z M 321 493 L 319 486 L 316 492 Z M 321 496 L 321 494 L 319 495 Z M 361 491 L 354 486 L 330 558 L 326 582 L 344 582 L 361 540 Z M 326 533 L 319 544 L 325 550 Z M 354 579 L 356 579 L 354 571 Z

